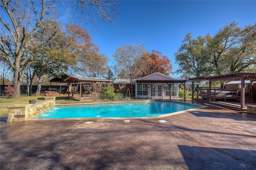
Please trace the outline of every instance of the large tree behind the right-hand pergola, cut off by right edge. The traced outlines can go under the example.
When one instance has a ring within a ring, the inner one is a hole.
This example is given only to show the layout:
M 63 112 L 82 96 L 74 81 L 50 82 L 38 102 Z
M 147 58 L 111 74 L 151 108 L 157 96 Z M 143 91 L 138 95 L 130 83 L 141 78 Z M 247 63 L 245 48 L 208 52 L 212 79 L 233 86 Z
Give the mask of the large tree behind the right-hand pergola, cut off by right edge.
M 231 22 L 208 39 L 216 74 L 250 71 L 256 64 L 256 24 L 244 28 Z

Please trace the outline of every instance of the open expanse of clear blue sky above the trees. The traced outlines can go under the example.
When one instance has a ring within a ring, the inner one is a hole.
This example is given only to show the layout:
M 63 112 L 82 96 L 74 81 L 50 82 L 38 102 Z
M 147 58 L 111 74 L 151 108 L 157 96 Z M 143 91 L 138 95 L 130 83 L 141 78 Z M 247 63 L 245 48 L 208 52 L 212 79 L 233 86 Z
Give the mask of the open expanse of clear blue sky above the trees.
M 112 55 L 121 45 L 144 43 L 150 53 L 157 50 L 166 55 L 178 69 L 174 53 L 178 51 L 187 33 L 214 34 L 226 23 L 238 22 L 239 26 L 256 22 L 256 0 L 122 0 L 121 14 L 116 23 L 100 23 L 90 30 L 94 43 L 99 45 L 112 65 Z M 178 78 L 179 75 L 170 75 Z

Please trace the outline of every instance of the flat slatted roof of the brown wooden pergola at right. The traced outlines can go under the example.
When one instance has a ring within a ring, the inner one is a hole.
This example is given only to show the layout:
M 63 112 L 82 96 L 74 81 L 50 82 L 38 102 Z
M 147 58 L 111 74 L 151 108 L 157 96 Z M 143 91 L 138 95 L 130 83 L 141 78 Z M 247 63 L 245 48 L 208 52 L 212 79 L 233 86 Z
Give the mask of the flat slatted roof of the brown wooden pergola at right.
M 224 75 L 218 75 L 218 76 L 200 76 L 200 77 L 194 77 L 189 78 L 189 81 L 203 81 L 203 80 L 209 80 L 209 81 L 219 81 L 219 80 L 256 80 L 256 72 L 235 72 L 230 74 L 224 74 Z

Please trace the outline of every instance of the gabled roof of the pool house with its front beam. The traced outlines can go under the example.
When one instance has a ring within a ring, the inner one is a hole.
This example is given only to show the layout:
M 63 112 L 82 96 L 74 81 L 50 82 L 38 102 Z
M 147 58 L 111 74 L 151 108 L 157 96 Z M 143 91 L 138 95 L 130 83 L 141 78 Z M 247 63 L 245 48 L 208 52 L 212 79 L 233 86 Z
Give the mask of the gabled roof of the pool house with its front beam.
M 166 76 L 164 74 L 161 74 L 159 72 L 155 72 L 148 76 L 134 80 L 134 82 L 137 82 L 137 83 L 142 83 L 142 82 L 144 82 L 144 83 L 149 83 L 149 82 L 151 82 L 151 83 L 156 83 L 156 82 L 159 82 L 159 83 L 184 83 L 186 81 L 187 80 L 175 79 L 175 78 Z

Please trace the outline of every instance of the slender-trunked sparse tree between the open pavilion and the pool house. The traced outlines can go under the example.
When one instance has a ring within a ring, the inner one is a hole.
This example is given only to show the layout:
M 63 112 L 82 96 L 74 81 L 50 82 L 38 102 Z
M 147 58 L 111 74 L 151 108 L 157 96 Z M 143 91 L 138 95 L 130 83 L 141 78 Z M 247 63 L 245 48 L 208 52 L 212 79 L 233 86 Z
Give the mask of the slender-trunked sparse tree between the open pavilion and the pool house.
M 116 61 L 114 70 L 118 77 L 129 79 L 133 84 L 133 80 L 145 69 L 146 63 L 142 58 L 144 53 L 144 43 L 140 43 L 138 46 L 122 45 L 119 47 L 113 55 L 114 61 Z

